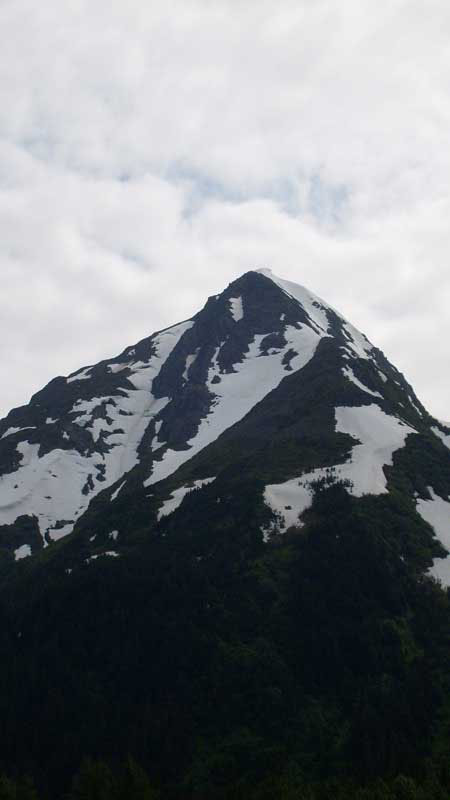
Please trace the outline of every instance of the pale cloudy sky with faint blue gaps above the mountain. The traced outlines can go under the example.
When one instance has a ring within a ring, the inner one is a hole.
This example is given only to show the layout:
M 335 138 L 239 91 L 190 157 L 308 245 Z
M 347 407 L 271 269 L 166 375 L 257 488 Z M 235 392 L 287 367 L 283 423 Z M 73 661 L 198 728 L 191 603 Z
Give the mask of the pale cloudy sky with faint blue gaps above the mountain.
M 446 0 L 2 0 L 0 412 L 271 267 L 450 419 Z

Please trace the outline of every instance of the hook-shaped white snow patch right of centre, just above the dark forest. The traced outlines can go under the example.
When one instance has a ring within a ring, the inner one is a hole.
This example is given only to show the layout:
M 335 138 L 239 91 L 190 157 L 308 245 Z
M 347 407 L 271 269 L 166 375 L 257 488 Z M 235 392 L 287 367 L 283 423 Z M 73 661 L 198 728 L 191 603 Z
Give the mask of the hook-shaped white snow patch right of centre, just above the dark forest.
M 343 481 L 357 497 L 384 494 L 387 481 L 383 467 L 392 464 L 396 450 L 404 447 L 406 437 L 417 433 L 396 417 L 388 416 L 373 403 L 369 406 L 336 408 L 336 431 L 359 441 L 352 448 L 350 459 L 332 468 L 312 470 L 298 478 L 266 486 L 264 500 L 277 517 L 280 530 L 298 525 L 299 515 L 313 500 L 317 481 Z

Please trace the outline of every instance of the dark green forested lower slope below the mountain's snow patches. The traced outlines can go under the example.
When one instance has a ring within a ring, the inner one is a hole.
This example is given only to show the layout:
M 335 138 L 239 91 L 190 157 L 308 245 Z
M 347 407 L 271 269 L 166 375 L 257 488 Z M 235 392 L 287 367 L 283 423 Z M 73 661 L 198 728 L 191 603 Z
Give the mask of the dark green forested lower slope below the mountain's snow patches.
M 340 485 L 267 543 L 245 492 L 220 530 L 211 513 L 193 492 L 183 526 L 121 558 L 8 573 L 3 772 L 42 800 L 447 799 L 450 609 L 426 576 L 431 528 L 395 492 Z

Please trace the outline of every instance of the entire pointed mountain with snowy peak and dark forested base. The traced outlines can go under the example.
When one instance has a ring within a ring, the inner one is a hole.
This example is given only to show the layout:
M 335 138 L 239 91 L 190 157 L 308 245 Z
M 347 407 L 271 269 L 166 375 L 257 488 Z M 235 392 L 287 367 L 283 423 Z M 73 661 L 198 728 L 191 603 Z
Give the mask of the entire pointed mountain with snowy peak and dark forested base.
M 447 798 L 449 448 L 270 270 L 55 378 L 0 421 L 0 772 L 49 800 Z

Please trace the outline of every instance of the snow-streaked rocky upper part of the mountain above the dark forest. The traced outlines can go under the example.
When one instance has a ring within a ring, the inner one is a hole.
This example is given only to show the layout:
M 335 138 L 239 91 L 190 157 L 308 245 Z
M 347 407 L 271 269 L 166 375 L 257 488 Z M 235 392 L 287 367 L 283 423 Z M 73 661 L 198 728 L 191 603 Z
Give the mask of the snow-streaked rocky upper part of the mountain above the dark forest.
M 74 532 L 96 537 L 94 555 L 120 552 L 193 489 L 219 503 L 243 482 L 267 539 L 338 481 L 357 497 L 401 492 L 449 546 L 449 448 L 450 429 L 363 334 L 302 286 L 250 271 L 0 421 L 0 544 L 20 559 Z M 433 570 L 450 582 L 444 555 Z

